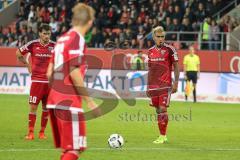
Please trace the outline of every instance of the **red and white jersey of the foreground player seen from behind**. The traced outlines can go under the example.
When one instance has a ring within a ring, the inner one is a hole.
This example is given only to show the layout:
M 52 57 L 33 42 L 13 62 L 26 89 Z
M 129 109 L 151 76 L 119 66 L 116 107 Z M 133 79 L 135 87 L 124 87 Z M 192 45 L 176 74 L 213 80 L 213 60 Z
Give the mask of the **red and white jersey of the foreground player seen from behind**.
M 75 30 L 69 30 L 58 39 L 54 48 L 54 56 L 51 59 L 54 64 L 54 73 L 48 97 L 48 108 L 81 110 L 82 98 L 73 86 L 70 68 L 71 66 L 79 67 L 84 77 L 87 68 L 85 53 L 84 37 Z

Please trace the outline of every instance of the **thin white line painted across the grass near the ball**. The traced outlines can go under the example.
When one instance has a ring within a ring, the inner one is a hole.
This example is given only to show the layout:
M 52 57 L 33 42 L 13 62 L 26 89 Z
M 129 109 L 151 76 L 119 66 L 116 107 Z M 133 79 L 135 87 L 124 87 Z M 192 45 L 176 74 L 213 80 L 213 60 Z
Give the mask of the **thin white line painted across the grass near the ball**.
M 57 149 L 53 148 L 36 148 L 36 149 L 0 149 L 0 152 L 37 152 L 37 151 L 55 151 Z M 121 149 L 110 149 L 110 148 L 88 148 L 88 151 L 240 151 L 240 148 L 137 148 L 137 147 L 130 147 L 130 148 L 121 148 Z

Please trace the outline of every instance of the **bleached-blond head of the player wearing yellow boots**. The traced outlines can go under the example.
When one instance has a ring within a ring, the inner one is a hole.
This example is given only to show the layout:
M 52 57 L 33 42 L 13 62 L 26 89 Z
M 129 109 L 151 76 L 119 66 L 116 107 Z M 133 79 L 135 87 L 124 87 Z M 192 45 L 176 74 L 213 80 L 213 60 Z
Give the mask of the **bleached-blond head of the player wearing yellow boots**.
M 152 36 L 157 46 L 161 45 L 165 41 L 165 31 L 162 26 L 157 26 L 152 30 Z

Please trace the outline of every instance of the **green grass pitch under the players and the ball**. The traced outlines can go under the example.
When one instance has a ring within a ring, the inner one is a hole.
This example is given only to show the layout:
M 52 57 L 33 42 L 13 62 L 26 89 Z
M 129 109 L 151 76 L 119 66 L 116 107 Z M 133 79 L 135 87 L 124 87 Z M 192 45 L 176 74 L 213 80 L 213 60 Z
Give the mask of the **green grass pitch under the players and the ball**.
M 0 95 L 0 160 L 58 160 L 48 124 L 48 139 L 25 141 L 28 97 Z M 40 111 L 35 133 L 39 131 Z M 238 160 L 240 158 L 240 105 L 172 102 L 166 144 L 158 136 L 154 110 L 148 101 L 129 107 L 123 101 L 101 118 L 87 122 L 88 150 L 80 160 Z M 122 149 L 109 149 L 107 138 L 119 133 Z M 37 135 L 35 135 L 37 137 Z

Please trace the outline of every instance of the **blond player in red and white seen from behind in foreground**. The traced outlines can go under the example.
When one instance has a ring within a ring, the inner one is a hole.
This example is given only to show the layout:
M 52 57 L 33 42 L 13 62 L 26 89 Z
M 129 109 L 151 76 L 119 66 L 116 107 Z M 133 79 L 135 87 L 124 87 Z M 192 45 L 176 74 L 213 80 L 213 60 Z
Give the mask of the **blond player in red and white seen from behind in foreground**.
M 93 24 L 95 11 L 83 3 L 72 11 L 73 27 L 58 39 L 47 72 L 51 81 L 47 108 L 55 146 L 62 149 L 61 160 L 77 160 L 86 149 L 82 100 L 95 115 L 100 114 L 83 81 L 87 65 L 84 36 Z

